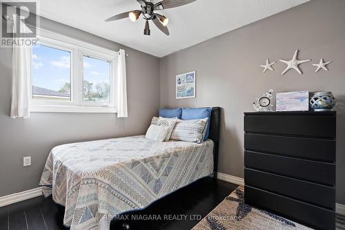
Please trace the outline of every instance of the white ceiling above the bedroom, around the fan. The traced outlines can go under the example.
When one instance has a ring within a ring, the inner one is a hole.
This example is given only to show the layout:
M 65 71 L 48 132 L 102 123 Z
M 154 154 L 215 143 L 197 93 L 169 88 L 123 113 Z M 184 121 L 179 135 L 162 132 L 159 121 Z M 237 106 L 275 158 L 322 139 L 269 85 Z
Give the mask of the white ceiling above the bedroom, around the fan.
M 41 0 L 38 14 L 85 30 L 119 44 L 164 57 L 217 35 L 282 12 L 308 0 L 197 0 L 163 10 L 170 19 L 170 36 L 150 23 L 151 36 L 143 35 L 144 19 L 105 22 L 113 15 L 139 9 L 135 0 Z M 156 0 L 157 2 L 157 0 Z

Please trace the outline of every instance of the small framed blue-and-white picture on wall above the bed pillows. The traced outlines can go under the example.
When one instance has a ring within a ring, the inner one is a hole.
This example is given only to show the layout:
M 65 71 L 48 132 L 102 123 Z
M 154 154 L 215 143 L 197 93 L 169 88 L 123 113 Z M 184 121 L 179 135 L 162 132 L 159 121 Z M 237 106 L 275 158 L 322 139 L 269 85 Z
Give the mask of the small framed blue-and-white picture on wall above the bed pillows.
M 176 99 L 195 97 L 195 71 L 176 75 Z

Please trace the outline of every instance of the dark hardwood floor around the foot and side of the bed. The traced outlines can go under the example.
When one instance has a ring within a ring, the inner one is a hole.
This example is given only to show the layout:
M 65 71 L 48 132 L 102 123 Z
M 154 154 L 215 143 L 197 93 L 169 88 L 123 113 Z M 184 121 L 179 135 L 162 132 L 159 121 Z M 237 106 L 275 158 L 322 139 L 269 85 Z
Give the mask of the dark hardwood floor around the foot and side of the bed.
M 112 222 L 110 229 L 123 229 L 125 222 L 133 230 L 192 229 L 236 188 L 235 184 L 204 178 L 158 200 L 147 209 L 121 215 L 119 220 Z M 51 196 L 0 208 L 0 230 L 66 229 L 62 222 L 63 211 L 52 202 Z

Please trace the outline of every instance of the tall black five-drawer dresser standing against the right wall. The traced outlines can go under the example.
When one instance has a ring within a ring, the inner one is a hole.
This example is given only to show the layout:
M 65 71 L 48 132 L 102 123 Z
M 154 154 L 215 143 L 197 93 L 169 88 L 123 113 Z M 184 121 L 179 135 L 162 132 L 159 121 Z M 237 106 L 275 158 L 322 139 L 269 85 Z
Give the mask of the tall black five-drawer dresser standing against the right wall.
M 244 113 L 244 199 L 335 229 L 336 112 Z

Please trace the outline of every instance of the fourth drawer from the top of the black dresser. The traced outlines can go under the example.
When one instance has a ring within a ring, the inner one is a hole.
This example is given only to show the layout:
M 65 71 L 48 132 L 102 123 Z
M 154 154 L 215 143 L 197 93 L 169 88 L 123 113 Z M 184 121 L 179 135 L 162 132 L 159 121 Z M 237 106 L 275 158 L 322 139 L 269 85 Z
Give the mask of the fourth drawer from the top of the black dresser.
M 253 169 L 244 169 L 244 183 L 296 200 L 335 210 L 335 188 L 287 178 Z

